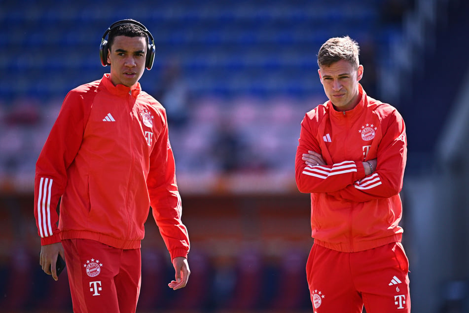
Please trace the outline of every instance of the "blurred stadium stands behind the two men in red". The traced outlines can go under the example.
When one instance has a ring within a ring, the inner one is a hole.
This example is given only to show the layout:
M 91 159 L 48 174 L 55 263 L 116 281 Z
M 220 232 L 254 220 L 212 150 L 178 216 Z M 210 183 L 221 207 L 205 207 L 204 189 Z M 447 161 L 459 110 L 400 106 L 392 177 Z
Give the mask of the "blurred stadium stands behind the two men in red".
M 99 79 L 103 33 L 142 22 L 142 87 L 170 125 L 192 274 L 172 291 L 151 218 L 138 312 L 311 312 L 309 195 L 294 182 L 304 114 L 326 98 L 316 55 L 361 45 L 367 93 L 406 121 L 401 196 L 415 313 L 469 312 L 469 1 L 0 0 L 0 311 L 72 312 L 38 264 L 35 162 L 62 100 Z

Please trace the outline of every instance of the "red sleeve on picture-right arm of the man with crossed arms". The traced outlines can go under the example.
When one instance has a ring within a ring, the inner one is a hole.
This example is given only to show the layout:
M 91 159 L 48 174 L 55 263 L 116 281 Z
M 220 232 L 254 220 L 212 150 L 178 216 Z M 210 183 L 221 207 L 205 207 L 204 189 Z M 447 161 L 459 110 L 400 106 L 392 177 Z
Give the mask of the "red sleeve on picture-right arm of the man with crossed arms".
M 376 170 L 331 196 L 364 202 L 389 198 L 401 191 L 407 159 L 405 124 L 397 110 L 394 110 L 381 125 L 384 134 L 378 145 Z

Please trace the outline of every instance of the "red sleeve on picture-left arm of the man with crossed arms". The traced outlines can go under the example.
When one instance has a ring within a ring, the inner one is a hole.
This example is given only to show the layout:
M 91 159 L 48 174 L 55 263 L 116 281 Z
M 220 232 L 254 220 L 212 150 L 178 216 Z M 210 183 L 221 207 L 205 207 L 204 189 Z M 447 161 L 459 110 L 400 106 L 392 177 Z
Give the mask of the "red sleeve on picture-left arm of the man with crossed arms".
M 313 111 L 312 111 L 313 112 Z M 306 165 L 302 160 L 309 150 L 322 153 L 316 138 L 317 116 L 306 114 L 301 122 L 299 144 L 296 149 L 296 186 L 302 193 L 331 193 L 352 185 L 365 176 L 362 162 L 343 161 L 332 165 Z M 326 157 L 323 155 L 323 158 Z

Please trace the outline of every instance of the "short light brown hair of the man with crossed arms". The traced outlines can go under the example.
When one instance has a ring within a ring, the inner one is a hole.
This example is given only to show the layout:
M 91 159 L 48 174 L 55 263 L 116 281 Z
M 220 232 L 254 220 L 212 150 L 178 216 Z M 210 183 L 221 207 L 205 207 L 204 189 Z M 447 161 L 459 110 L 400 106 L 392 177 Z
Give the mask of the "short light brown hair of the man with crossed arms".
M 328 39 L 319 49 L 318 52 L 318 65 L 330 66 L 340 60 L 350 62 L 354 69 L 358 69 L 360 46 L 354 39 L 349 36 L 334 37 Z

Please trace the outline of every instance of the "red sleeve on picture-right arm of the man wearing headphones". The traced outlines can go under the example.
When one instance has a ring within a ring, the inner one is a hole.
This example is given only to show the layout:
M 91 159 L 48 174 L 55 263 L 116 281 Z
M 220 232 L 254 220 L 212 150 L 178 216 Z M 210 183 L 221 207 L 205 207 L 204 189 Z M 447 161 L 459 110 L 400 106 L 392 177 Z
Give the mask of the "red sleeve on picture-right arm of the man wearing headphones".
M 181 221 L 181 198 L 176 183 L 176 166 L 164 111 L 161 113 L 161 118 L 164 121 L 163 130 L 150 155 L 147 186 L 153 217 L 171 259 L 174 259 L 187 257 L 190 244 L 187 229 Z

